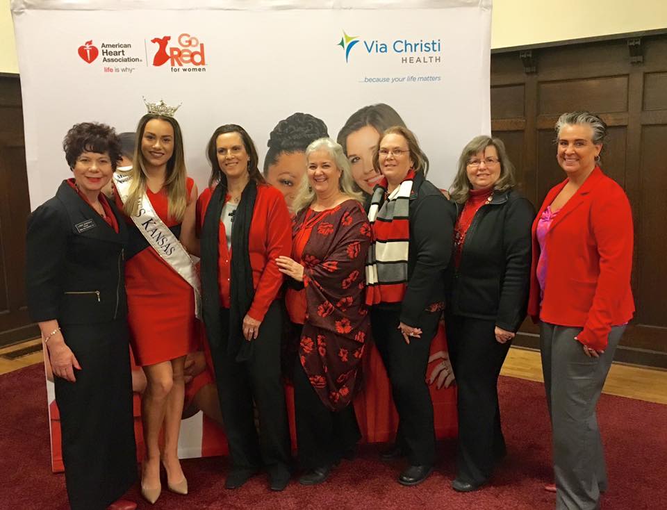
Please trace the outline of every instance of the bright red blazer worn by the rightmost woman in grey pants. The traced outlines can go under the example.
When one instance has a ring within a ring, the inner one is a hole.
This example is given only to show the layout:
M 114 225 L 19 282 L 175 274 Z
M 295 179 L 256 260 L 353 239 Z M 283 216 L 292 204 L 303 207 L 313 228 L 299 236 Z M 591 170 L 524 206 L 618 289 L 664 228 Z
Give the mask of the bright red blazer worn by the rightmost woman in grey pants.
M 634 313 L 632 211 L 623 188 L 595 167 L 547 233 L 549 261 L 540 307 L 537 224 L 567 182 L 547 193 L 533 223 L 528 313 L 535 321 L 583 327 L 579 342 L 602 350 L 607 347 L 611 326 L 625 324 Z

